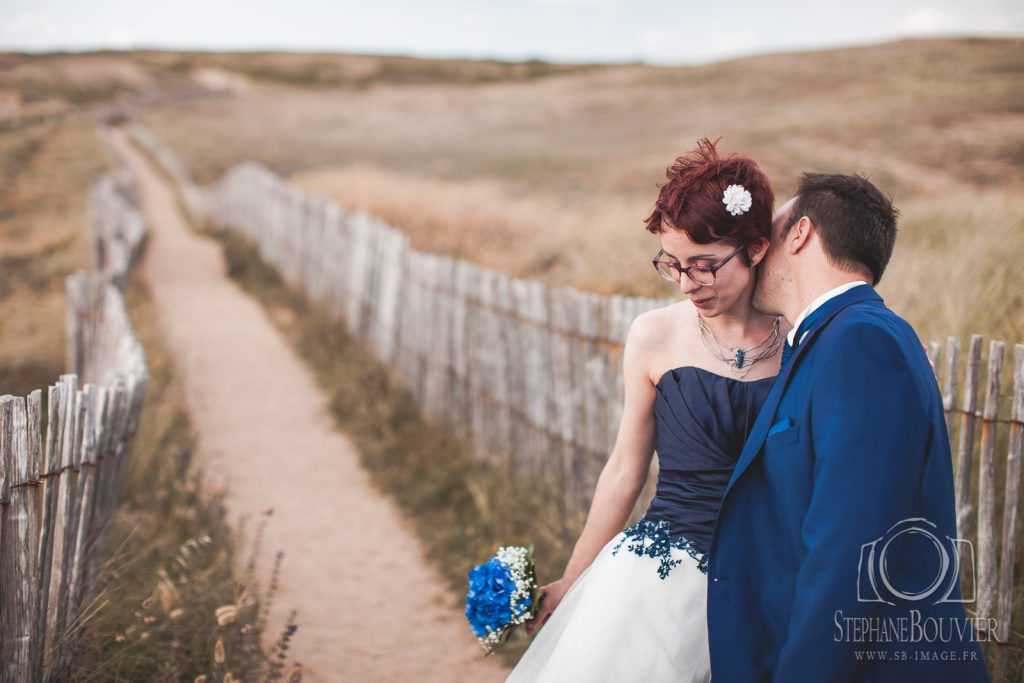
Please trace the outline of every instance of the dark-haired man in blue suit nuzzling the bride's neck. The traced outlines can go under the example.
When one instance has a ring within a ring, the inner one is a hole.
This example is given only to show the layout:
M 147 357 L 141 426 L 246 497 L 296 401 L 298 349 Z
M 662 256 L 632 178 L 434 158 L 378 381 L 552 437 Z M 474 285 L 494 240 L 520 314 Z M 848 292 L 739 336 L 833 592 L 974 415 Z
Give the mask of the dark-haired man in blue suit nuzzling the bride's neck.
M 776 214 L 754 305 L 794 329 L 711 542 L 715 683 L 988 680 L 938 386 L 873 288 L 896 216 L 831 174 Z

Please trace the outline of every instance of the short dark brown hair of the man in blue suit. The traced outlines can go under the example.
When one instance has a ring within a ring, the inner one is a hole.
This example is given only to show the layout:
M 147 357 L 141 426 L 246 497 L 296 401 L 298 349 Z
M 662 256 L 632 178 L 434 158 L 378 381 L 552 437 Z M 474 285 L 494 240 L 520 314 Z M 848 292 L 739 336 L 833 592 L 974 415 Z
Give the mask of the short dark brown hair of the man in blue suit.
M 866 268 L 878 284 L 896 243 L 899 211 L 867 178 L 839 173 L 805 173 L 782 234 L 801 217 L 814 223 L 834 264 Z

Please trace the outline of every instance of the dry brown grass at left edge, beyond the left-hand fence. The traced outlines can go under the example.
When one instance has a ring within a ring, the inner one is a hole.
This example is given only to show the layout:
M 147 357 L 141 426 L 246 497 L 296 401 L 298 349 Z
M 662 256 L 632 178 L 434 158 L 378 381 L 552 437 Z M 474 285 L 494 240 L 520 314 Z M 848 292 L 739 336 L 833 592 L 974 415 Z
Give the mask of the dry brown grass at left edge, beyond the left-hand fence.
M 89 267 L 93 178 L 113 160 L 86 117 L 0 132 L 0 390 L 65 372 L 65 278 Z

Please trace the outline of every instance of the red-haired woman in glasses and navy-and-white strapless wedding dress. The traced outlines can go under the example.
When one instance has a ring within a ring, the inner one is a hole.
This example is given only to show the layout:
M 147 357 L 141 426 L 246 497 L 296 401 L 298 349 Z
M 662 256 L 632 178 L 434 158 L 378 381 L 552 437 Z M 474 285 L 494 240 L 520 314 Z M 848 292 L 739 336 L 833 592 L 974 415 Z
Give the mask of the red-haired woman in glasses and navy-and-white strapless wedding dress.
M 684 299 L 630 327 L 614 449 L 506 683 L 711 679 L 705 552 L 790 330 L 751 305 L 771 186 L 753 160 L 720 157 L 716 143 L 675 160 L 645 221 L 660 238 L 654 268 Z M 624 529 L 653 451 L 654 498 Z

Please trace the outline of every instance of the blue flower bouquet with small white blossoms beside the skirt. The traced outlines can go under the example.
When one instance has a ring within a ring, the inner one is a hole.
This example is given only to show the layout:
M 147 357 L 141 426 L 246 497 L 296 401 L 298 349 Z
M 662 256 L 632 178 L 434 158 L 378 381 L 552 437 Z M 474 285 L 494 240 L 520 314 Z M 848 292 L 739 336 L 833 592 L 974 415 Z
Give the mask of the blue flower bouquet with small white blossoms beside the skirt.
M 486 654 L 505 644 L 517 626 L 537 613 L 534 546 L 504 546 L 469 573 L 466 618 Z

